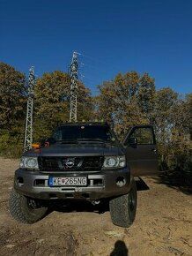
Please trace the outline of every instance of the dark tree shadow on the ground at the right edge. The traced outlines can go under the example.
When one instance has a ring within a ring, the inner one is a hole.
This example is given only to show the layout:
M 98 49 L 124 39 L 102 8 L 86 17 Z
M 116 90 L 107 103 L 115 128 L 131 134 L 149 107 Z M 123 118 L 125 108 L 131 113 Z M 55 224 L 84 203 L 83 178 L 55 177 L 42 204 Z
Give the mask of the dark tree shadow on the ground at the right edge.
M 152 177 L 157 184 L 166 184 L 167 186 L 192 194 L 192 172 L 183 172 L 176 170 L 161 171 L 159 177 Z

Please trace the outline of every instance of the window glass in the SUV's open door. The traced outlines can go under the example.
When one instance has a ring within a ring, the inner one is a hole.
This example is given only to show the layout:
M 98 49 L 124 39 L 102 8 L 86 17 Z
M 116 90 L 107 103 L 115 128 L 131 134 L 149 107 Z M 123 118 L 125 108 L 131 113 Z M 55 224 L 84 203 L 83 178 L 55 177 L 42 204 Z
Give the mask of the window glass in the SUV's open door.
M 137 139 L 137 145 L 154 144 L 153 133 L 150 127 L 138 127 L 129 135 L 130 138 Z

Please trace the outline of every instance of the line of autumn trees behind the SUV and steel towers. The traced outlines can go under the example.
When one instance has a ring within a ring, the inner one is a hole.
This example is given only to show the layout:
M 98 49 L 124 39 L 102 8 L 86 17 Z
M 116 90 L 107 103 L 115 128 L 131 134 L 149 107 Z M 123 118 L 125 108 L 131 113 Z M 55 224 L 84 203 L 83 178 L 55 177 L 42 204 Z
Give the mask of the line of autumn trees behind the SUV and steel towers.
M 78 83 L 78 121 L 113 122 L 123 139 L 136 124 L 152 124 L 159 147 L 161 169 L 192 169 L 192 94 L 181 97 L 170 87 L 157 89 L 148 73 L 118 73 L 98 86 L 92 96 Z M 0 154 L 19 156 L 24 145 L 27 77 L 0 63 Z M 34 87 L 33 141 L 50 136 L 56 125 L 69 121 L 70 75 L 46 72 Z

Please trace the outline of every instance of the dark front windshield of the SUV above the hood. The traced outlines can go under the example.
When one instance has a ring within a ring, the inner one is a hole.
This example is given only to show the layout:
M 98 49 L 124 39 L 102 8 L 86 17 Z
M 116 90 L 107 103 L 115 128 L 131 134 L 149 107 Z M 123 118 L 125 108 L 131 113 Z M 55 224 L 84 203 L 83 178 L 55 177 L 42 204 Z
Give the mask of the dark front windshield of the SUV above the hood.
M 109 127 L 104 125 L 63 125 L 57 128 L 53 138 L 56 141 L 78 139 L 109 141 L 112 140 L 112 135 Z

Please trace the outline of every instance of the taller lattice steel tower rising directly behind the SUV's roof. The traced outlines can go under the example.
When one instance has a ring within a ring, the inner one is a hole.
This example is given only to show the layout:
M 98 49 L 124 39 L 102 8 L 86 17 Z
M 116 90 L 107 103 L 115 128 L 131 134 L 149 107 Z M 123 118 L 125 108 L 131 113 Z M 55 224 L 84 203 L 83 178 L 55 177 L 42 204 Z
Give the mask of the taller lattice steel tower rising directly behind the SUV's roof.
M 77 122 L 77 97 L 78 97 L 78 53 L 73 52 L 70 64 L 70 122 Z

